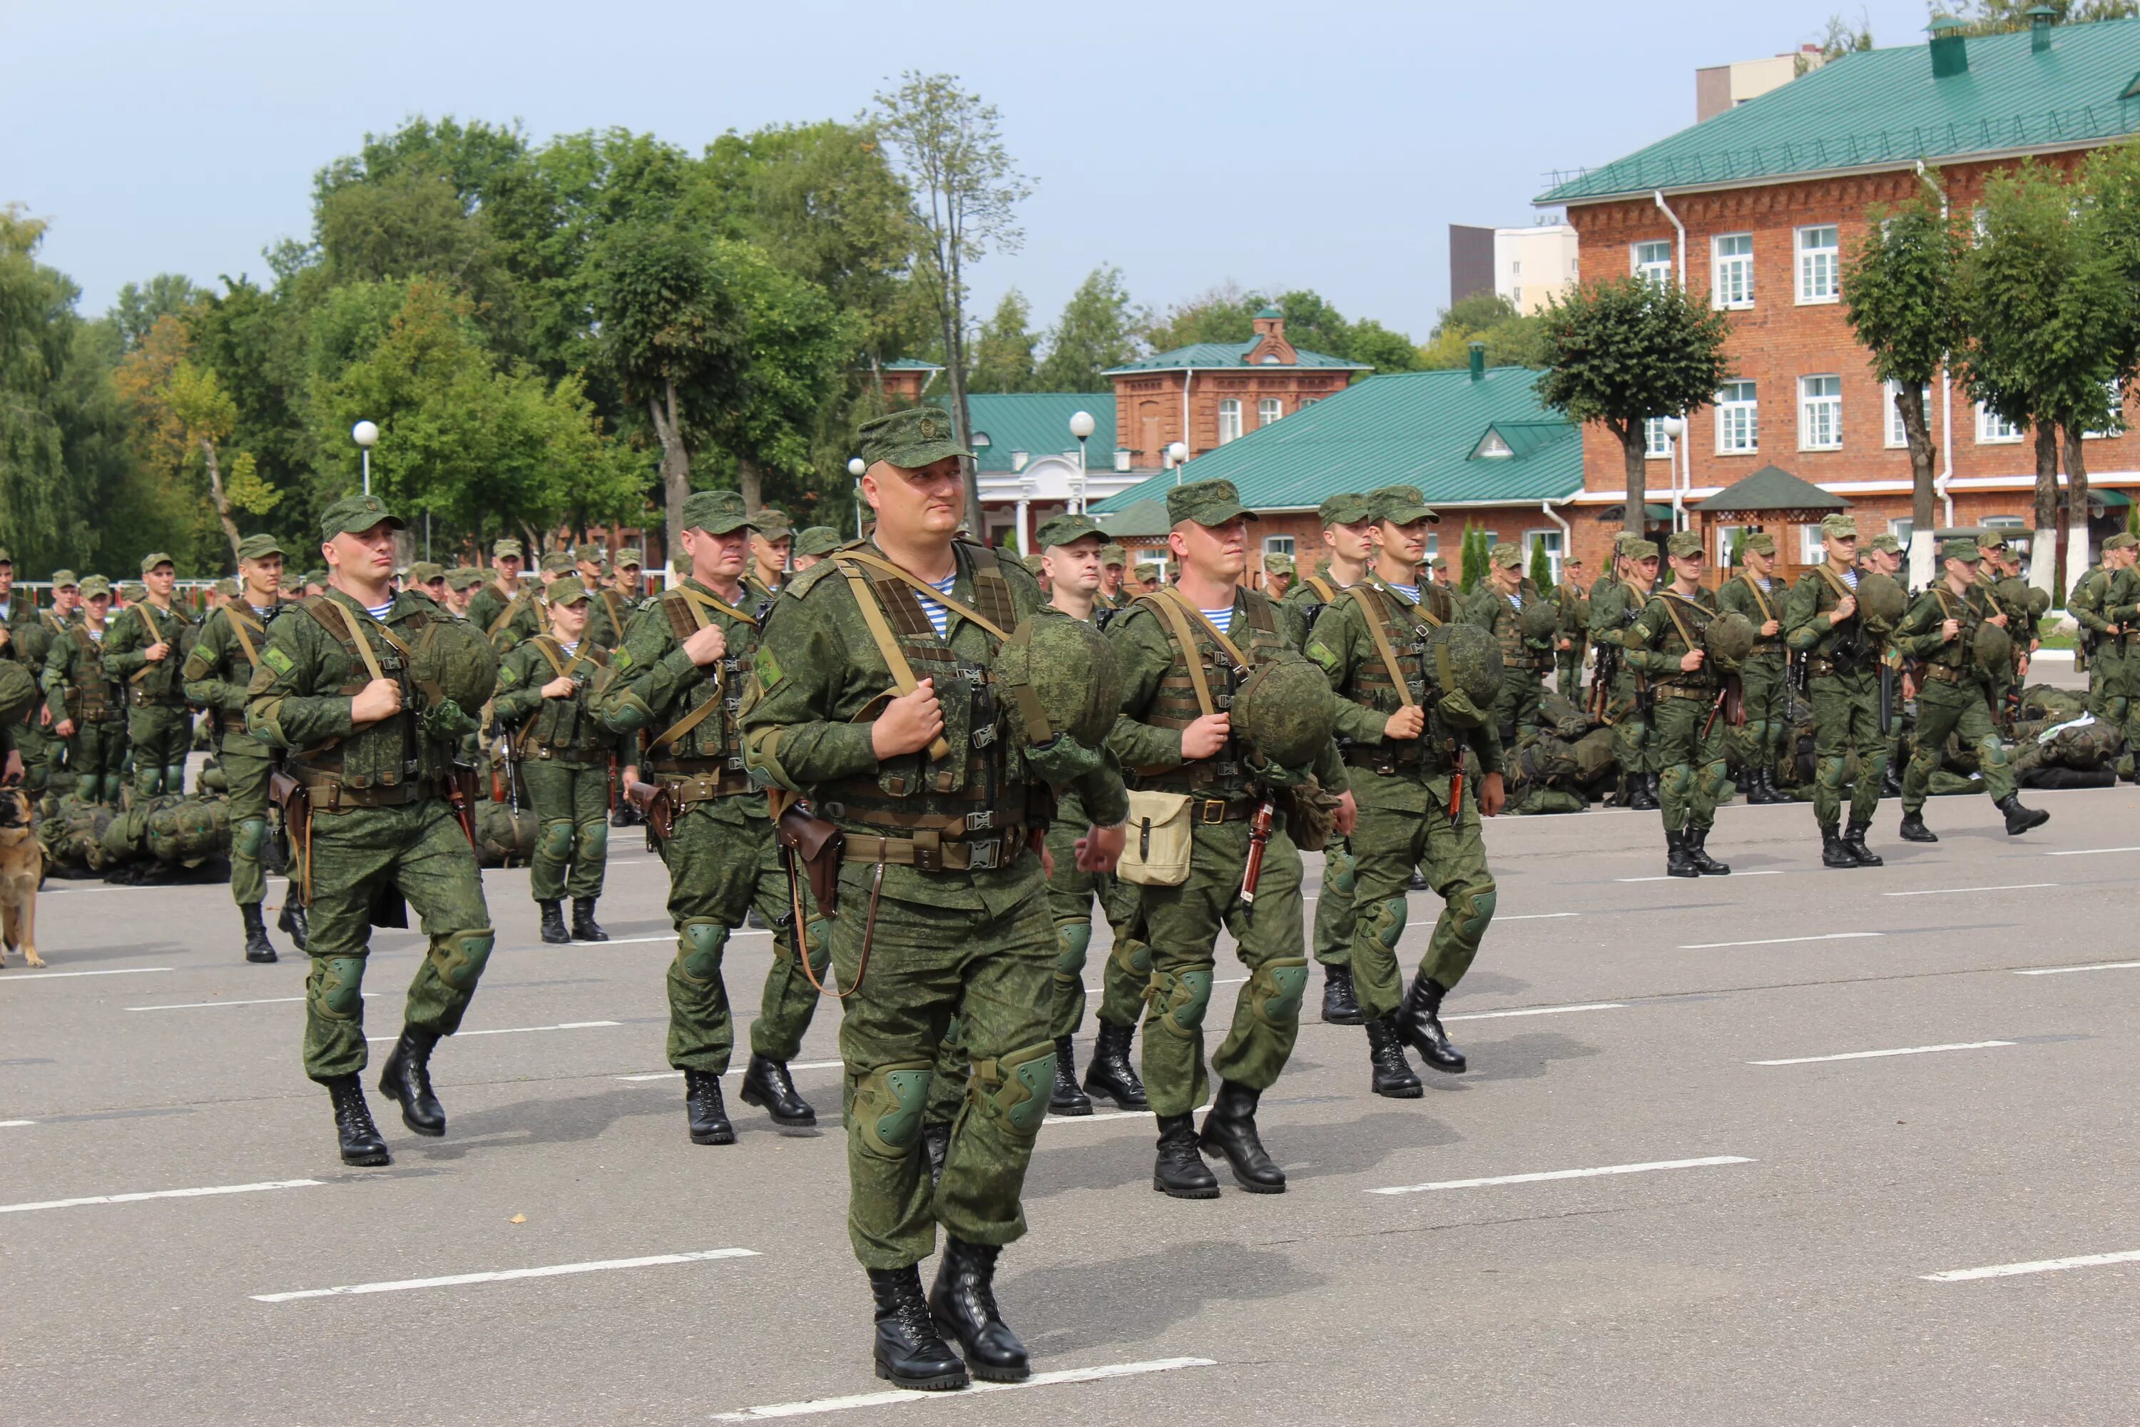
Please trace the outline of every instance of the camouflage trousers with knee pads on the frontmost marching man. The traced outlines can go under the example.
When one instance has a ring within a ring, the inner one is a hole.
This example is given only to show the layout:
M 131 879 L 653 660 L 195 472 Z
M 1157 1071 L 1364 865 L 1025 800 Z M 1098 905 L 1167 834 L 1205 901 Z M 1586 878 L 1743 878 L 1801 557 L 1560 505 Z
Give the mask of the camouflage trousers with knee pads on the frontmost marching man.
M 832 965 L 854 986 L 869 922 L 869 866 L 841 869 Z M 847 1127 L 847 1239 L 865 1269 L 905 1269 L 935 1252 L 935 1226 L 967 1243 L 1025 1232 L 1019 1194 L 1049 1110 L 1055 929 L 1031 888 L 1008 911 L 886 896 L 871 933 L 869 976 L 841 1001 L 841 1113 Z M 944 1179 L 929 1185 L 920 1147 L 935 1063 L 959 1023 L 963 1104 Z M 965 1072 L 965 1057 L 972 1070 Z

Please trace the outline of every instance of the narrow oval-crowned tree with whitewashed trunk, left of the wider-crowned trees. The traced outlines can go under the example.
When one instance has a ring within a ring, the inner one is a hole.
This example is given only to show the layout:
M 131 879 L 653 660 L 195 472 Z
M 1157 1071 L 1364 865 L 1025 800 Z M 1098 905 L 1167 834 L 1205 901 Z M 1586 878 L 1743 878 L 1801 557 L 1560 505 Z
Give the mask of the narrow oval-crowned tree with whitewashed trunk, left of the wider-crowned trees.
M 1894 406 L 1909 441 L 1911 573 L 1932 569 L 1932 421 L 1924 394 L 1960 344 L 1956 274 L 1967 240 L 1930 195 L 1894 210 L 1875 208 L 1864 242 L 1843 270 L 1851 332 L 1872 357 L 1872 374 L 1894 383 Z M 1922 533 L 1922 539 L 1920 539 Z

